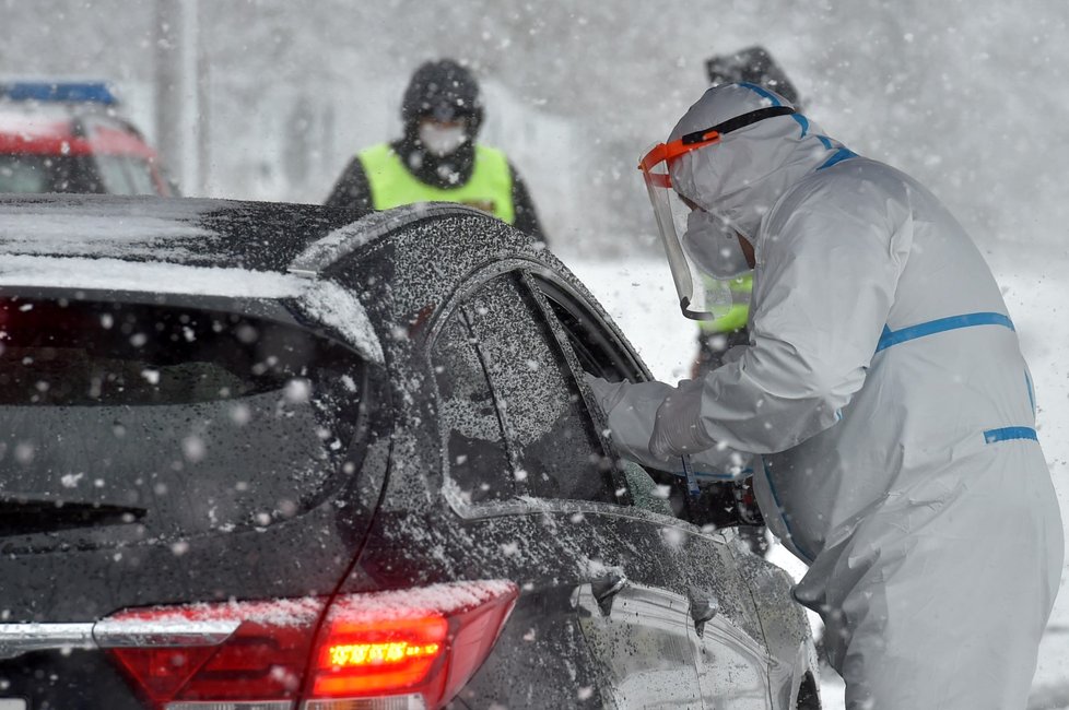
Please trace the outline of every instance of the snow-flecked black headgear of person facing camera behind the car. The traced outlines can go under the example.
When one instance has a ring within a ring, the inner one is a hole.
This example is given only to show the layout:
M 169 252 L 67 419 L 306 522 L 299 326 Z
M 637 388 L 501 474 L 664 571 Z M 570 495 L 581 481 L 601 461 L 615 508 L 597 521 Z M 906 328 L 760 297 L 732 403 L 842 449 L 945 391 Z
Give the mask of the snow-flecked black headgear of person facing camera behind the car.
M 472 135 L 482 123 L 479 83 L 467 68 L 451 59 L 428 61 L 412 74 L 401 102 L 401 120 L 412 126 L 421 118 L 438 121 L 467 119 Z

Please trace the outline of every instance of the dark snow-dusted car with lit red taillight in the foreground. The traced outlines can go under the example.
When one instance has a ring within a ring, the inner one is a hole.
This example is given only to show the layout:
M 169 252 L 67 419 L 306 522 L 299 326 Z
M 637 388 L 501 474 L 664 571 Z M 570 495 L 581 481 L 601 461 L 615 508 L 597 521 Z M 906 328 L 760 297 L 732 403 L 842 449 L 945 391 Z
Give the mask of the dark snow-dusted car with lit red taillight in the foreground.
M 648 372 L 506 224 L 0 198 L 0 249 L 3 710 L 820 707 L 789 579 L 620 460 L 582 374 Z

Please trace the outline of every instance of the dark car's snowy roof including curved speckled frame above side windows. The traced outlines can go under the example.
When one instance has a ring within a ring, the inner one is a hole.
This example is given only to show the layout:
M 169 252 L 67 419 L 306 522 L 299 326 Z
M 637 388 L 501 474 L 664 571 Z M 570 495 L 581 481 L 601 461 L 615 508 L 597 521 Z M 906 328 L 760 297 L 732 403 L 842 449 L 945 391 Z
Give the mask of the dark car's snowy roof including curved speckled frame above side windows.
M 474 271 L 524 263 L 582 289 L 541 242 L 449 203 L 362 212 L 207 199 L 0 196 L 0 288 L 293 299 L 379 363 L 395 331 L 426 323 Z M 378 272 L 337 271 L 354 262 L 374 262 Z M 343 282 L 361 283 L 361 293 Z M 385 329 L 381 343 L 372 322 Z

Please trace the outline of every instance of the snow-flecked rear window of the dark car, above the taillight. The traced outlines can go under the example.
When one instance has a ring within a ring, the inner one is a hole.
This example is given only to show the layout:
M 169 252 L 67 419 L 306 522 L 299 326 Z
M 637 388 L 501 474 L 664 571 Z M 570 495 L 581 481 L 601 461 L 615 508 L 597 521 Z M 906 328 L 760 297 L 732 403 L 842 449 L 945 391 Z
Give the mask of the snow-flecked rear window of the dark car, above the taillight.
M 0 532 L 107 544 L 301 514 L 354 443 L 363 372 L 267 318 L 0 298 L 0 510 L 27 521 Z

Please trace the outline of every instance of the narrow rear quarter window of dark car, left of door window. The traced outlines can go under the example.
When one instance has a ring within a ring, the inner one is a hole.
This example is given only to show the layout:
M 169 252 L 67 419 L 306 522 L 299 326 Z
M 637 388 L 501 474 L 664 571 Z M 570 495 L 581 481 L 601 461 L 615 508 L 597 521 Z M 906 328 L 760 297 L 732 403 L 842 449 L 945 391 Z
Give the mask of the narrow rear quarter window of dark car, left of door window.
M 451 485 L 468 504 L 518 493 L 493 391 L 465 309 L 449 317 L 431 352 Z

